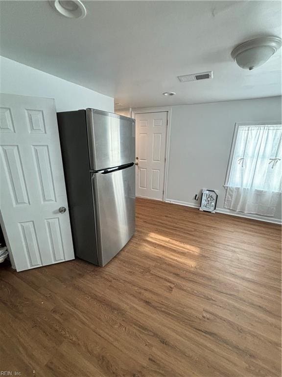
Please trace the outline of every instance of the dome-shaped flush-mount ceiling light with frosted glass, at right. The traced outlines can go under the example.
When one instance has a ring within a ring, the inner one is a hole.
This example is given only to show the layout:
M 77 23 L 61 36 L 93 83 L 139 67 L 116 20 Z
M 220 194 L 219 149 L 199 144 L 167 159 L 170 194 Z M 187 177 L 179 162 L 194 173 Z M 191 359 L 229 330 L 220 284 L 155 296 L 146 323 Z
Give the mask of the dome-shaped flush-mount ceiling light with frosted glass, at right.
M 269 36 L 244 42 L 232 51 L 231 56 L 243 69 L 252 70 L 264 64 L 281 47 L 281 38 Z

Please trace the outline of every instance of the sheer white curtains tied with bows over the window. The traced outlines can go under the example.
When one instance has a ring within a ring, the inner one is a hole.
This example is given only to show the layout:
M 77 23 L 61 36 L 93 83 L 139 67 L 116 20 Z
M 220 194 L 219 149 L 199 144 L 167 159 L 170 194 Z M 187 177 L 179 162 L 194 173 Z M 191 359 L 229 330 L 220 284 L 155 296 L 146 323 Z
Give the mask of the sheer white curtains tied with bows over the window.
M 273 216 L 282 190 L 282 125 L 238 126 L 224 207 Z

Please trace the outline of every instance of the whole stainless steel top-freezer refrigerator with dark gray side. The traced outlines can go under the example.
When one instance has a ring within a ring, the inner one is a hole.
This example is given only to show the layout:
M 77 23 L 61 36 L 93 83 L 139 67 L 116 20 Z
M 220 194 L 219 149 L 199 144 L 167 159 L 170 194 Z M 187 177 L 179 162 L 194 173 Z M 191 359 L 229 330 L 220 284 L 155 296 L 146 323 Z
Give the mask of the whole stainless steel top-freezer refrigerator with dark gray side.
M 57 113 L 75 255 L 105 266 L 135 231 L 135 120 Z

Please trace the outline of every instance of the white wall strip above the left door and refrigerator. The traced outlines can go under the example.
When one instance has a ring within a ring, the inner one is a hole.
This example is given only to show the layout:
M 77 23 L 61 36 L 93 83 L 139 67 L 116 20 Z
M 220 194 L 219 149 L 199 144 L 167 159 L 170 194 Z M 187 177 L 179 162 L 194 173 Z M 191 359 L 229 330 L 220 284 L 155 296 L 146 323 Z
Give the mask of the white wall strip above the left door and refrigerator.
M 57 111 L 97 108 L 114 112 L 114 99 L 0 56 L 0 92 L 54 98 Z

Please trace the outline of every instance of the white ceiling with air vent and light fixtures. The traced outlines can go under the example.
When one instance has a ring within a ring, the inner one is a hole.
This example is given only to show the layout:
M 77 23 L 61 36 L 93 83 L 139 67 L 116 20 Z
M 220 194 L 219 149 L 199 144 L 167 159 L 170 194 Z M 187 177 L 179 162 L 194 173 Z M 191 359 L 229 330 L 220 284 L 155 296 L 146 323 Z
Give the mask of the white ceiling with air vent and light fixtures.
M 281 95 L 281 50 L 254 71 L 230 56 L 238 43 L 281 35 L 280 1 L 83 3 L 86 17 L 74 20 L 47 1 L 0 1 L 1 54 L 115 97 L 119 108 Z M 177 80 L 210 70 L 212 80 Z

